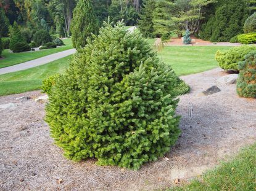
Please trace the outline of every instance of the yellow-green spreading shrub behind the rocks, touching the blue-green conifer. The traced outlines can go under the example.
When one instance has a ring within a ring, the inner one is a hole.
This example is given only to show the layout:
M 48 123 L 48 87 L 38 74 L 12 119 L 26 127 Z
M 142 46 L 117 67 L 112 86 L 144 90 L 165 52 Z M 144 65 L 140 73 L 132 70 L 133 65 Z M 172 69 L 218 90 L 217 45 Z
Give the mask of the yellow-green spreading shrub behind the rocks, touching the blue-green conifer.
M 220 50 L 218 50 L 215 59 L 220 68 L 225 69 L 226 71 L 238 71 L 239 61 L 244 61 L 244 56 L 254 50 L 256 50 L 256 47 L 250 45 L 234 47 L 226 52 L 220 52 Z

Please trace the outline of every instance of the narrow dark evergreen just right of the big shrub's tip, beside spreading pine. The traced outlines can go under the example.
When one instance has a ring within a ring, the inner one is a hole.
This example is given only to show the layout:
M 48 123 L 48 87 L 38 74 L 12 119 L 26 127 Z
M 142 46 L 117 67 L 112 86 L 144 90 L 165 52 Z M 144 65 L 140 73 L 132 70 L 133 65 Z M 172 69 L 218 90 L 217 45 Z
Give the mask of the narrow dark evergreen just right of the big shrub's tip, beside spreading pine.
M 139 14 L 138 25 L 141 33 L 145 37 L 155 37 L 154 27 L 153 27 L 153 14 L 155 10 L 155 0 L 144 0 L 143 6 L 141 8 L 141 13 Z

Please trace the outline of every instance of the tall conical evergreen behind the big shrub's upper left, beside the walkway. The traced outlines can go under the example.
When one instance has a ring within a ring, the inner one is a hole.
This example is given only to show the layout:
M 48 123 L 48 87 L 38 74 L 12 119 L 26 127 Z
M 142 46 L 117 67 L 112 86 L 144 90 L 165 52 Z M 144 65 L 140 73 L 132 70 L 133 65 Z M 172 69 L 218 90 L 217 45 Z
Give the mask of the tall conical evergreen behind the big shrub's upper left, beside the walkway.
M 71 25 L 73 46 L 78 49 L 86 45 L 87 37 L 98 31 L 97 19 L 91 0 L 79 0 L 75 7 Z

